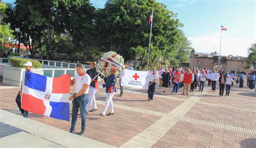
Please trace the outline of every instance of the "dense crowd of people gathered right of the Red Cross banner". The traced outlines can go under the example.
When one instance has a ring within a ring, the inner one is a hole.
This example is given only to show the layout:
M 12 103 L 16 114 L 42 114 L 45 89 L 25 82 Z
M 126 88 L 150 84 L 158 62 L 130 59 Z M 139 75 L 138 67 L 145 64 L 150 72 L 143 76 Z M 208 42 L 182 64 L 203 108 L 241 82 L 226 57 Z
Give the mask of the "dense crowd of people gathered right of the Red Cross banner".
M 224 69 L 199 69 L 196 67 L 169 67 L 160 68 L 158 71 L 156 68 L 153 69 L 151 75 L 156 75 L 156 80 L 150 82 L 149 86 L 149 101 L 153 100 L 154 90 L 156 89 L 157 81 L 159 81 L 159 88 L 164 88 L 164 93 L 167 91 L 166 88 L 173 86 L 171 93 L 176 93 L 180 88 L 183 88 L 182 95 L 188 95 L 188 92 L 194 92 L 197 88 L 199 92 L 203 92 L 205 83 L 208 87 L 211 87 L 212 91 L 215 92 L 217 83 L 219 83 L 219 96 L 222 97 L 230 95 L 230 90 L 233 87 L 234 81 L 239 81 L 239 87 L 244 87 L 245 74 L 241 73 L 235 76 L 234 72 L 225 72 Z M 151 76 L 152 77 L 152 76 Z M 153 79 L 152 79 L 153 80 Z M 254 73 L 247 75 L 247 85 L 250 89 L 254 88 L 253 82 L 255 81 Z M 153 82 L 153 83 L 152 83 Z M 153 88 L 152 88 L 153 86 Z

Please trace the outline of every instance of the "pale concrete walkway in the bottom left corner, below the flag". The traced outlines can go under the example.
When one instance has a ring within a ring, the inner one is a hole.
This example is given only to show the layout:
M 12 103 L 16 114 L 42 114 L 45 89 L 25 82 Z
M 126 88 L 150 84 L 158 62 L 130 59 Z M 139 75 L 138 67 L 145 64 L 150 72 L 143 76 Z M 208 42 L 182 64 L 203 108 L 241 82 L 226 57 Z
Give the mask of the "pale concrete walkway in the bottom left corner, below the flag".
M 0 147 L 113 147 L 8 111 L 0 115 Z

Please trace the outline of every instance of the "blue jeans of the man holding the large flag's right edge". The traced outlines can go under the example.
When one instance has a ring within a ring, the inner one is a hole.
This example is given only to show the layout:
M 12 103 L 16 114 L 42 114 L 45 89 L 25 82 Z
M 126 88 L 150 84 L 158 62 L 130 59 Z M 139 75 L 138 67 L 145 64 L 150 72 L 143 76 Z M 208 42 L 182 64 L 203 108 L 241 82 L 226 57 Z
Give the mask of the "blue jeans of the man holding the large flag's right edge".
M 85 130 L 85 117 L 86 117 L 85 108 L 88 101 L 89 101 L 88 94 L 83 94 L 82 96 L 76 97 L 72 101 L 72 121 L 71 121 L 70 132 L 75 132 L 76 123 L 77 123 L 77 113 L 79 108 L 80 108 L 80 115 L 82 119 L 81 129 Z

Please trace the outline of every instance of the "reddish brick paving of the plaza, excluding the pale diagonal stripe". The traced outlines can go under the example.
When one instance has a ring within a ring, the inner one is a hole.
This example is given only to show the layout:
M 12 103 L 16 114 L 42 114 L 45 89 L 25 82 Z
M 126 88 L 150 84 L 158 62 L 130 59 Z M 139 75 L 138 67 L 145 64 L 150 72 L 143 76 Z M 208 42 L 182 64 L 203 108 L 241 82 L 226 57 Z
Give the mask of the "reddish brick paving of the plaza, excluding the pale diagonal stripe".
M 102 104 L 97 104 L 96 112 L 89 112 L 86 115 L 85 137 L 113 146 L 122 146 L 190 97 L 198 96 L 197 93 L 190 93 L 189 96 L 180 95 L 182 89 L 178 94 L 171 94 L 171 90 L 172 87 L 167 89 L 167 93 L 163 93 L 163 89 L 157 88 L 154 101 L 148 102 L 146 90 L 125 88 L 124 96 L 119 97 L 118 92 L 113 97 L 113 116 L 99 116 L 103 110 Z M 206 87 L 207 90 L 209 88 Z M 0 82 L 0 109 L 18 112 L 15 102 L 18 91 L 19 88 L 9 87 Z M 70 93 L 74 91 L 75 88 L 71 87 Z M 99 88 L 97 95 L 99 97 L 96 97 L 96 100 L 104 101 L 105 89 Z M 132 107 L 134 110 L 117 108 L 115 104 Z M 255 147 L 255 104 L 252 91 L 247 88 L 239 89 L 237 84 L 231 89 L 231 96 L 228 97 L 219 97 L 218 91 L 207 91 L 184 116 L 176 117 L 178 121 L 152 147 Z M 72 104 L 70 119 L 71 108 Z M 163 115 L 145 114 L 136 111 L 137 108 L 161 112 Z M 29 118 L 65 131 L 70 130 L 71 123 L 67 121 L 32 113 L 29 114 Z M 80 131 L 80 126 L 81 119 L 78 114 L 76 133 Z M 146 145 L 147 142 L 138 140 L 136 144 Z

